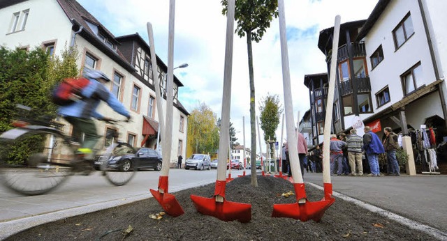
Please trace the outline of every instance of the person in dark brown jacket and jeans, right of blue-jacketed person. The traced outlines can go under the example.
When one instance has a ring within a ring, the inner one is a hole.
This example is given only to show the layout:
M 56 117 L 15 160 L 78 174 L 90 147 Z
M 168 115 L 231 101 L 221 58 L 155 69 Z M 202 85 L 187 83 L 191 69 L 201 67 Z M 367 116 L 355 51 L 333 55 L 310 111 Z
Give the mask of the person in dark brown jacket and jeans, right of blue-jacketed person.
M 400 149 L 397 141 L 399 137 L 393 132 L 391 127 L 385 127 L 383 133 L 386 135 L 385 141 L 383 141 L 383 147 L 386 150 L 386 157 L 388 159 L 388 175 L 400 176 L 400 167 L 396 159 L 396 151 Z

